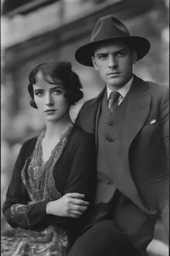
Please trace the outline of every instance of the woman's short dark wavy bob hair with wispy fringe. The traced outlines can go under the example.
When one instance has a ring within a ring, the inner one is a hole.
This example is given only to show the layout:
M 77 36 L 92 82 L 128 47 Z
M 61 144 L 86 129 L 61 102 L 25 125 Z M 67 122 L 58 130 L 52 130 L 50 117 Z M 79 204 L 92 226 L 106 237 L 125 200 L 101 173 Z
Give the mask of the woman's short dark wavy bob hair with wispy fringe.
M 65 89 L 64 97 L 68 105 L 75 105 L 83 97 L 82 84 L 78 75 L 72 71 L 72 65 L 68 61 L 48 61 L 35 67 L 29 74 L 29 94 L 31 95 L 30 105 L 37 109 L 34 100 L 33 85 L 37 83 L 37 73 L 41 72 L 44 81 L 49 84 L 62 85 Z M 51 81 L 52 80 L 52 81 Z

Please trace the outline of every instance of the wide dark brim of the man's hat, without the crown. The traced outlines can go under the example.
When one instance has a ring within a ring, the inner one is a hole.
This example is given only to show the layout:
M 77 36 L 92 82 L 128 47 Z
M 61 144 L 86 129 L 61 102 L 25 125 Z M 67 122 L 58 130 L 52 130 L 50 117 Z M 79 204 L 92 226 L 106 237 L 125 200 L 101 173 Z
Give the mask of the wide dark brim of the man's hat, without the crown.
M 137 51 L 137 60 L 142 59 L 147 55 L 149 49 L 151 47 L 149 41 L 144 37 L 137 37 L 137 36 L 124 36 L 124 37 L 110 37 L 106 39 L 102 39 L 100 41 L 95 41 L 92 43 L 87 43 L 86 45 L 82 45 L 79 47 L 75 52 L 76 61 L 80 64 L 93 67 L 92 63 L 92 56 L 94 56 L 94 49 L 96 48 L 99 43 L 104 43 L 106 41 L 114 41 L 120 39 L 125 43 L 128 43 L 129 47 L 133 51 Z

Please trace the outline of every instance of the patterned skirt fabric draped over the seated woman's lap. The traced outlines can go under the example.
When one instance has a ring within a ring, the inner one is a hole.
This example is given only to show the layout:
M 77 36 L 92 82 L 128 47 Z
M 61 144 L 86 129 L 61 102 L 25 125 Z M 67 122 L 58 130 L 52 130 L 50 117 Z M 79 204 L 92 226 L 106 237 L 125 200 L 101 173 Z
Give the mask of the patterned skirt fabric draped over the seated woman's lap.
M 66 231 L 54 226 L 43 231 L 17 228 L 1 236 L 1 256 L 65 256 L 67 247 Z

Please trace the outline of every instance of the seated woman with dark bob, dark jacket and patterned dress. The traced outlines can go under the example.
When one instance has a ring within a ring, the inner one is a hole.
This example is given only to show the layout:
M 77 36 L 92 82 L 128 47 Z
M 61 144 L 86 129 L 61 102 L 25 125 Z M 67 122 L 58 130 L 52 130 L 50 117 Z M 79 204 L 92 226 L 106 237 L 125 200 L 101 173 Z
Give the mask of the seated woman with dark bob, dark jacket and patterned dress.
M 85 225 L 94 195 L 94 137 L 73 125 L 69 109 L 82 99 L 72 65 L 48 61 L 29 75 L 31 106 L 46 130 L 23 143 L 3 204 L 13 231 L 1 255 L 66 255 Z

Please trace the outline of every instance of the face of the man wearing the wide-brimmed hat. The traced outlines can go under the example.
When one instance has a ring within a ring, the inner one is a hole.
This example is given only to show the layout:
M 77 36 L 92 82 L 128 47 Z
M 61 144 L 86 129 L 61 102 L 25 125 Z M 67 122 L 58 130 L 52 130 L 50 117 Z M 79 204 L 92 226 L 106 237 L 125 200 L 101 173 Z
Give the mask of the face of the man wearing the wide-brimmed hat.
M 102 80 L 110 89 L 120 89 L 129 79 L 132 65 L 137 61 L 137 53 L 131 53 L 129 46 L 123 41 L 102 43 L 94 51 L 92 62 L 99 71 Z

